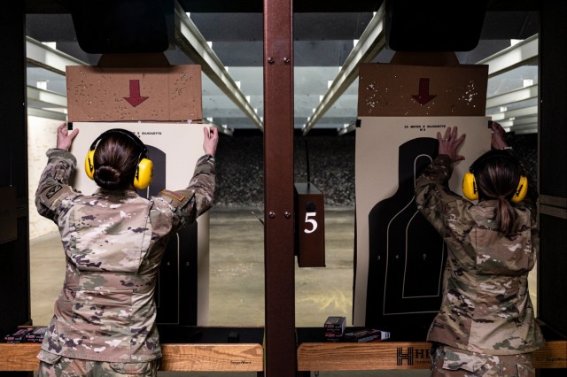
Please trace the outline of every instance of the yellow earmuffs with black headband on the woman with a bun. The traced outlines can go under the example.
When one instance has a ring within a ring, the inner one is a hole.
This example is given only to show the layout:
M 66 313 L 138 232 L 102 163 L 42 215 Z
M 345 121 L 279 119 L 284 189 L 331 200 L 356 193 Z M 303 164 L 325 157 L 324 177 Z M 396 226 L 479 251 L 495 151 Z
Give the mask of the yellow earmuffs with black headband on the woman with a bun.
M 134 174 L 134 187 L 144 189 L 150 186 L 151 179 L 153 177 L 153 163 L 150 159 L 144 157 L 147 156 L 148 149 L 144 145 L 144 142 L 142 142 L 136 135 L 122 128 L 109 129 L 99 135 L 97 139 L 90 144 L 87 157 L 85 158 L 85 172 L 87 173 L 87 176 L 91 180 L 94 179 L 95 176 L 95 150 L 97 149 L 97 143 L 105 136 L 112 134 L 126 135 L 130 138 L 130 140 L 136 143 L 140 149 L 140 157 L 138 158 L 136 173 Z

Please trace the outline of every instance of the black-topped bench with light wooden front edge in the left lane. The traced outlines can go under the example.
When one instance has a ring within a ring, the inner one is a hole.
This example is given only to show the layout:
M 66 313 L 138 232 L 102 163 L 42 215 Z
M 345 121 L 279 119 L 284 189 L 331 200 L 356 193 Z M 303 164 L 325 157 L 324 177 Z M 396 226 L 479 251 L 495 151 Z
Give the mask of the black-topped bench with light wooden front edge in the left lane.
M 159 327 L 159 370 L 256 372 L 263 376 L 263 327 Z M 36 371 L 40 344 L 0 343 L 0 371 Z

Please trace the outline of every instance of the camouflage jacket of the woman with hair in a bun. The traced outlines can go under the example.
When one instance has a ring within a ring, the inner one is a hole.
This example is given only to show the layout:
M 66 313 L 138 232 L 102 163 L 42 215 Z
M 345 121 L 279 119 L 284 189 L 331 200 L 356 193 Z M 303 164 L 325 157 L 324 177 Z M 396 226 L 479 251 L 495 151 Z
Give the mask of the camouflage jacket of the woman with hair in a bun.
M 145 199 L 135 190 L 82 195 L 67 184 L 74 156 L 58 149 L 47 156 L 35 204 L 58 225 L 66 276 L 38 358 L 161 358 L 153 297 L 159 264 L 170 235 L 211 208 L 214 157 L 198 159 L 187 188 Z

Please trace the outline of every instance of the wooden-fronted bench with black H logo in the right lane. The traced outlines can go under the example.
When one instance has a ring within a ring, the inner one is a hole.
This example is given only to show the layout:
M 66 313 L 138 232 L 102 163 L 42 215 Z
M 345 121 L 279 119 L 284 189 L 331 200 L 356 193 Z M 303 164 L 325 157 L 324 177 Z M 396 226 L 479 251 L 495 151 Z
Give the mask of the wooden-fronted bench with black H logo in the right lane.
M 348 331 L 361 327 L 347 328 Z M 362 371 L 429 369 L 431 343 L 384 340 L 381 342 L 329 342 L 322 327 L 298 328 L 298 377 L 311 371 Z M 536 368 L 567 368 L 567 340 L 549 340 L 532 354 Z

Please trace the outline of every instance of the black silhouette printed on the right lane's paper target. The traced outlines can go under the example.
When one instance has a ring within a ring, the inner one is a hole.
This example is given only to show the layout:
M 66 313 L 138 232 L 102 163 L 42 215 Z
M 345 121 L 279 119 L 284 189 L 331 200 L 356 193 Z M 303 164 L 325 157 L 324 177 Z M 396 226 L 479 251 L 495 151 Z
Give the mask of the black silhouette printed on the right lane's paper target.
M 369 212 L 366 327 L 424 339 L 439 312 L 446 246 L 417 211 L 414 197 L 416 178 L 438 148 L 431 137 L 401 144 L 398 190 Z

